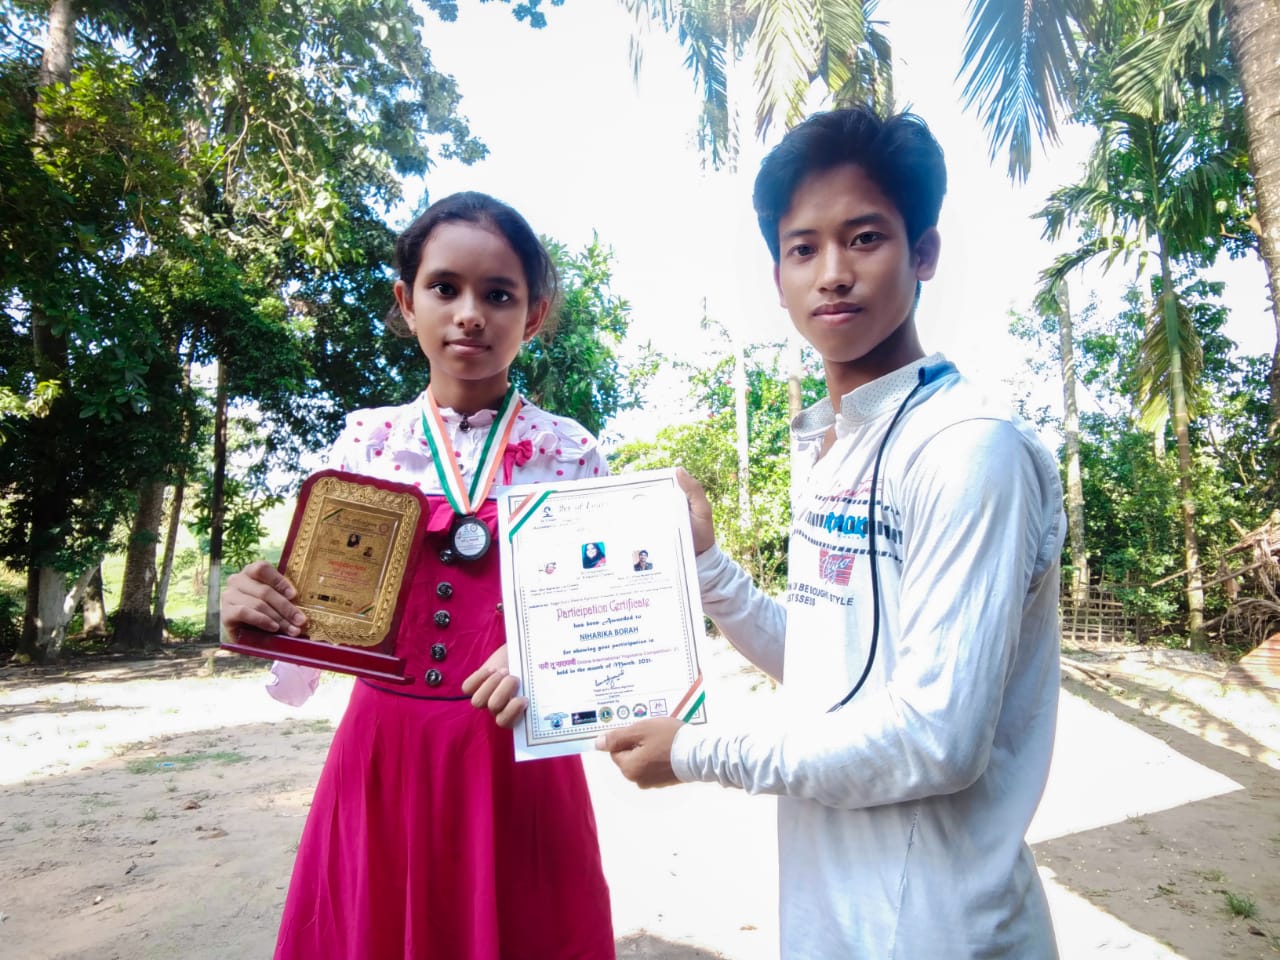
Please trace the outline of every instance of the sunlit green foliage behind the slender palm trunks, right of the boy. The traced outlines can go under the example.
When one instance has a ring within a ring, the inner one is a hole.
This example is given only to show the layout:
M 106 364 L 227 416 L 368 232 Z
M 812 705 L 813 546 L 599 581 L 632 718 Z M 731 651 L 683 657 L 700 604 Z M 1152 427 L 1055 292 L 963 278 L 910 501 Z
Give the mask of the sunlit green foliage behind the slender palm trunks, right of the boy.
M 1238 539 L 1236 525 L 1258 526 L 1275 503 L 1276 479 L 1258 468 L 1268 422 L 1265 385 L 1270 364 L 1267 357 L 1239 356 L 1221 333 L 1228 314 L 1219 301 L 1219 285 L 1184 278 L 1181 296 L 1203 344 L 1198 417 L 1190 426 L 1192 492 L 1201 561 L 1204 570 L 1213 571 Z M 1179 640 L 1184 598 L 1176 573 L 1184 558 L 1178 465 L 1160 454 L 1172 442 L 1171 425 L 1161 424 L 1167 431 L 1164 443 L 1152 443 L 1135 402 L 1149 326 L 1149 308 L 1137 287 L 1130 288 L 1126 306 L 1116 316 L 1102 316 L 1089 305 L 1075 317 L 1076 367 L 1087 394 L 1083 406 L 1088 407 L 1080 415 L 1085 543 L 1094 584 L 1144 616 L 1152 632 Z M 1032 362 L 1041 371 L 1036 376 L 1043 379 L 1046 357 L 1056 362 L 1053 319 L 1036 323 L 1019 317 L 1015 332 L 1033 344 L 1037 356 Z M 1221 613 L 1226 600 L 1225 594 L 1211 590 L 1206 614 Z M 1236 640 L 1230 635 L 1220 639 Z

